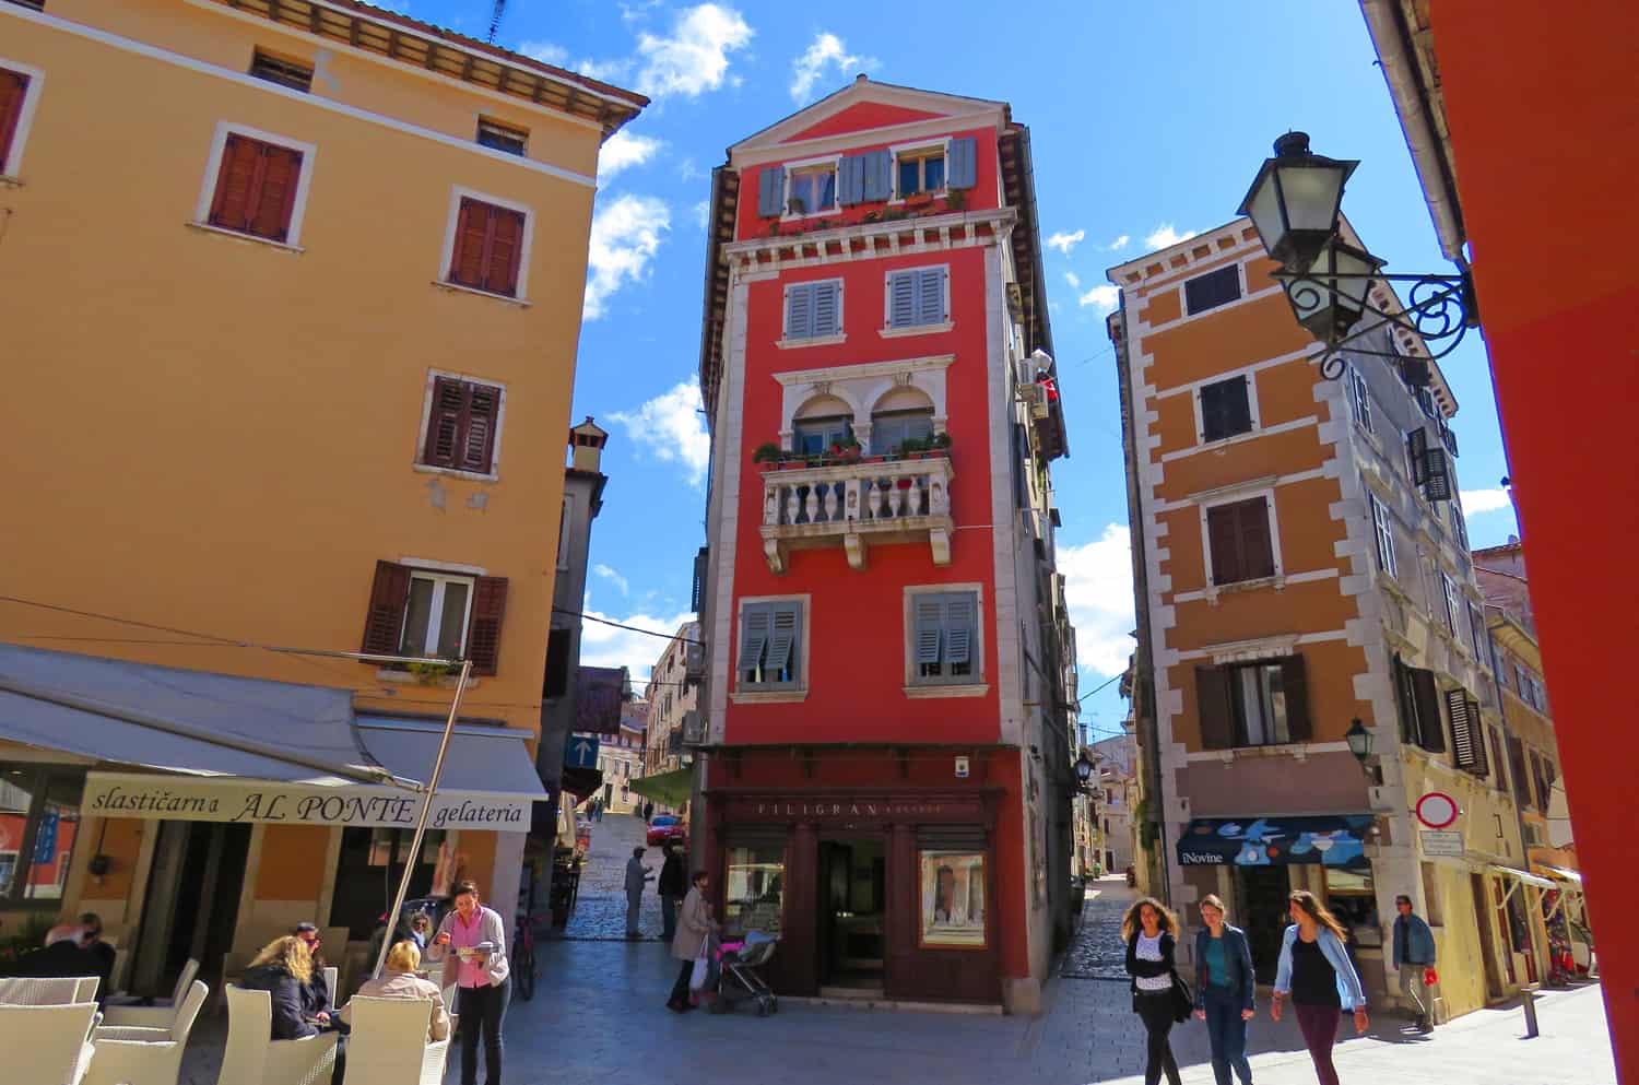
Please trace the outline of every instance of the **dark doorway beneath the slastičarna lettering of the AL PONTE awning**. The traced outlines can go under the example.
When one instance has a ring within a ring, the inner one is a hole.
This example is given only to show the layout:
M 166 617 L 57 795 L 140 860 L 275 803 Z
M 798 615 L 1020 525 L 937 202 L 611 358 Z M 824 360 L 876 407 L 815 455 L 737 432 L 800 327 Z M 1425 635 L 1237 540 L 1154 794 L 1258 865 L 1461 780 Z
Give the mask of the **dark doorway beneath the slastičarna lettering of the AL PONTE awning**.
M 129 990 L 169 995 L 188 957 L 221 975 L 244 890 L 251 826 L 161 821 L 148 875 Z

